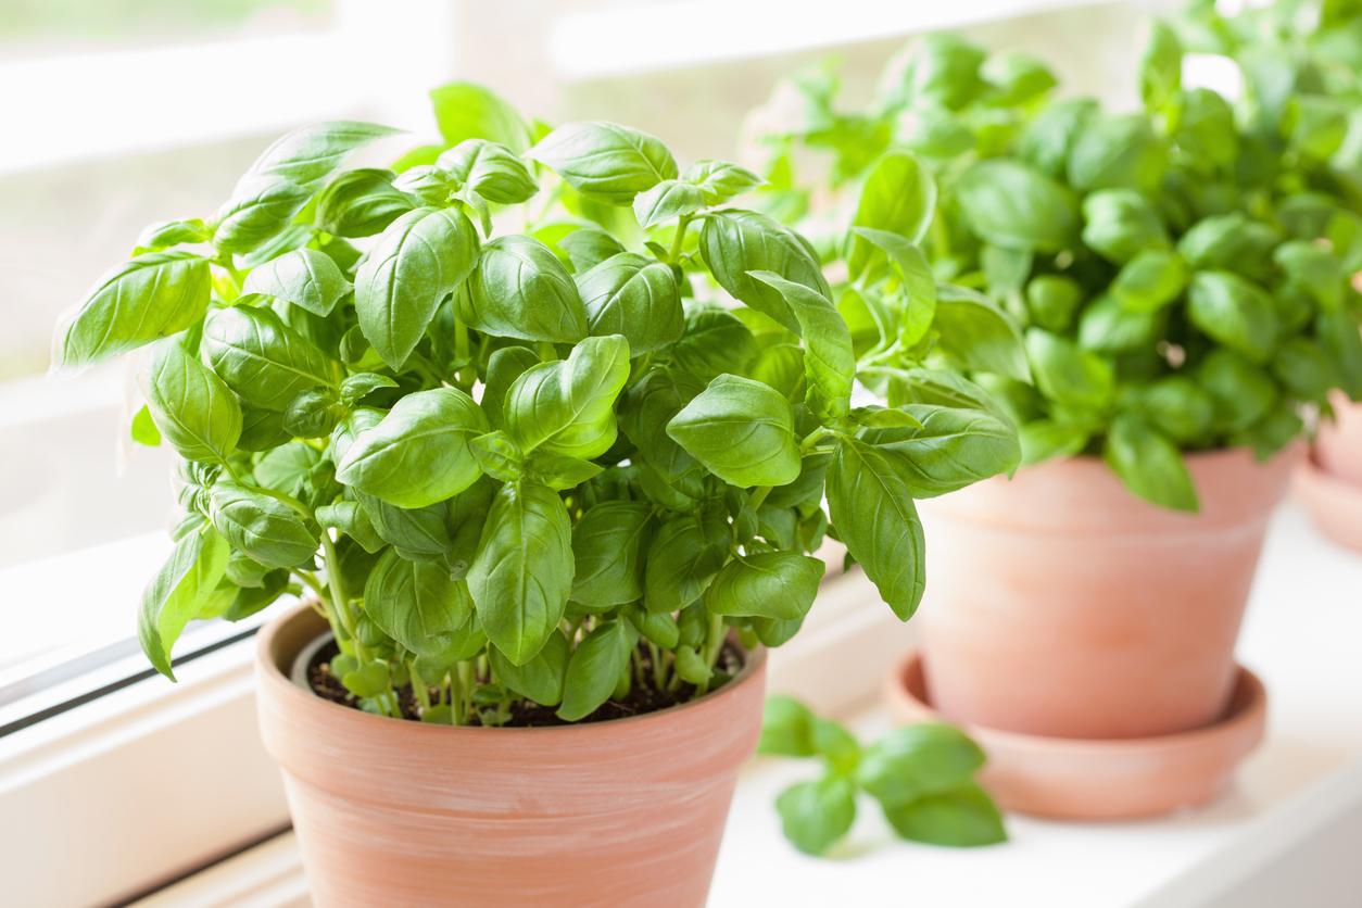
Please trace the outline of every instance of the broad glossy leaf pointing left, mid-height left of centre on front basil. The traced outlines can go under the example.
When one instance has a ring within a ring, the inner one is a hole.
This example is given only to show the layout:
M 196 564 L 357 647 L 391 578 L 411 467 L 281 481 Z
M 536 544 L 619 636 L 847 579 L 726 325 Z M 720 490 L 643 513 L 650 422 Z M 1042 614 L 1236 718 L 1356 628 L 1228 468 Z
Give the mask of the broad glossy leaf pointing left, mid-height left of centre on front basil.
M 482 471 L 469 442 L 488 429 L 463 391 L 418 391 L 355 437 L 336 464 L 336 479 L 399 508 L 424 508 L 477 482 Z

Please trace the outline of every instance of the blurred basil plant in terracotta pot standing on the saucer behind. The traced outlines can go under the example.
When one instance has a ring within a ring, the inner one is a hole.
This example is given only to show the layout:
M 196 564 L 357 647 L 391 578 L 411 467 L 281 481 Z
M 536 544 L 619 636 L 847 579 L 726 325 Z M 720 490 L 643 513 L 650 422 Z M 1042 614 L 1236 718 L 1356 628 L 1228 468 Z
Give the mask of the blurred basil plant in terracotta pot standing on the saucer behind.
M 1294 192 L 1301 157 L 1181 87 L 1181 48 L 1154 38 L 1141 113 L 1050 101 L 1043 65 L 932 35 L 868 112 L 839 113 L 828 80 L 804 80 L 804 118 L 770 135 L 774 207 L 808 192 L 798 148 L 831 151 L 834 187 L 917 173 L 881 216 L 934 197 L 913 234 L 932 272 L 1024 328 L 1024 362 L 978 383 L 1020 426 L 1026 466 L 925 509 L 926 686 L 978 727 L 1143 738 L 1222 716 L 1302 411 L 1359 389 L 1355 216 L 1316 242 L 1318 206 L 1342 206 Z M 902 406 L 917 393 L 904 365 L 862 377 Z

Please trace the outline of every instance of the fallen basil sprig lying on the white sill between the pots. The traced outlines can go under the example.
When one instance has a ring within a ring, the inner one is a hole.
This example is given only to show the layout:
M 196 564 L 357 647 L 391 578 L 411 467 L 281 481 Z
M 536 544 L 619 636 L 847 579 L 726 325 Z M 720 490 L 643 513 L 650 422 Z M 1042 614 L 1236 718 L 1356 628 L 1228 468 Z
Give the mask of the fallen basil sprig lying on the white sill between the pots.
M 775 800 L 786 839 L 805 854 L 823 855 L 851 830 L 862 792 L 900 839 L 957 848 L 1007 841 L 1002 815 L 974 780 L 983 751 L 953 726 L 895 728 L 862 747 L 797 700 L 770 697 L 757 753 L 823 764 L 821 776 Z

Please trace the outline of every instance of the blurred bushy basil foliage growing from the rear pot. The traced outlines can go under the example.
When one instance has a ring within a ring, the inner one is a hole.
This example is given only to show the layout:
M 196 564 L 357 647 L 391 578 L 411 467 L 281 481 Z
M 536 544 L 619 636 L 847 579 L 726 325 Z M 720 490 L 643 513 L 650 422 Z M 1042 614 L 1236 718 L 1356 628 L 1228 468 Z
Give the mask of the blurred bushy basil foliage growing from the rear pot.
M 794 152 L 828 150 L 823 182 L 859 185 L 858 216 L 913 219 L 936 279 L 1024 331 L 1016 368 L 963 362 L 990 368 L 978 380 L 1020 426 L 1024 463 L 1103 456 L 1136 496 L 1196 510 L 1185 452 L 1265 459 L 1302 434 L 1302 411 L 1327 411 L 1331 389 L 1362 393 L 1348 283 L 1362 219 L 1335 192 L 1348 176 L 1321 176 L 1318 155 L 1343 150 L 1325 144 L 1313 103 L 1273 99 L 1288 108 L 1276 112 L 1291 123 L 1283 137 L 1182 87 L 1181 64 L 1173 31 L 1156 27 L 1139 113 L 1053 101 L 1041 63 L 953 35 L 911 45 L 862 113 L 835 112 L 828 76 L 802 78 L 774 103 L 798 114 L 767 128 L 780 177 L 768 203 L 797 212 L 809 189 Z M 791 93 L 802 105 L 782 102 Z M 868 207 L 866 192 L 895 181 L 892 201 Z M 917 219 L 925 199 L 936 214 Z M 968 336 L 978 353 L 979 329 Z M 911 369 L 887 365 L 891 403 L 911 396 Z

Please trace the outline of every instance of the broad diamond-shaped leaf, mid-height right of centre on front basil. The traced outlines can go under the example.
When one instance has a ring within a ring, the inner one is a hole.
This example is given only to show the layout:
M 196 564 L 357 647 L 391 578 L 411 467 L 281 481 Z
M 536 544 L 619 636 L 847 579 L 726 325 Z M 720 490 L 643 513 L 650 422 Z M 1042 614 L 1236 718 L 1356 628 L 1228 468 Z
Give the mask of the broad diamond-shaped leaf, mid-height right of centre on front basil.
M 667 423 L 667 434 L 734 486 L 783 486 L 799 475 L 790 403 L 760 381 L 719 376 Z

